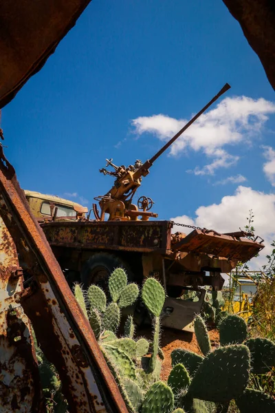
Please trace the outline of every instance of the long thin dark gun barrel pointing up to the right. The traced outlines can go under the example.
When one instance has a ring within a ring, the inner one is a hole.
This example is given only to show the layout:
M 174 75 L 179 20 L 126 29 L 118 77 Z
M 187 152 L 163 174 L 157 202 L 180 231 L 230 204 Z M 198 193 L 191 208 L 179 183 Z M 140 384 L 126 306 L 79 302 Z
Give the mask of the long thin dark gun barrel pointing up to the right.
M 230 89 L 230 87 L 231 86 L 228 85 L 228 83 L 225 83 L 225 85 L 221 88 L 219 93 L 216 96 L 214 96 L 214 98 L 212 98 L 206 106 L 204 106 L 191 120 L 189 120 L 189 122 L 186 123 L 186 125 L 182 127 L 180 131 L 178 131 L 177 134 L 175 134 L 175 136 L 173 136 L 173 138 L 168 140 L 168 142 L 161 149 L 159 149 L 159 151 L 155 153 L 155 155 L 150 160 L 146 160 L 146 162 L 144 162 L 144 165 L 142 165 L 142 167 L 140 167 L 139 169 L 139 171 L 142 172 L 141 175 L 146 176 L 148 173 L 148 168 L 150 168 L 153 165 L 153 162 L 155 162 L 155 160 L 159 158 L 159 156 L 161 156 L 162 153 L 164 153 L 164 151 L 166 151 L 166 149 L 168 149 L 168 147 L 170 147 L 175 142 L 175 140 L 177 140 L 177 138 L 179 138 L 179 136 L 181 136 L 181 134 L 183 134 L 184 131 L 186 131 L 186 129 L 188 129 L 188 127 L 190 127 L 190 125 L 192 125 L 192 123 L 194 123 L 195 120 L 199 118 L 199 116 L 201 116 L 201 114 L 203 114 L 203 112 L 206 112 L 206 109 L 208 109 L 208 107 L 210 107 L 212 103 L 219 99 L 219 97 L 222 94 L 227 92 L 228 89 Z

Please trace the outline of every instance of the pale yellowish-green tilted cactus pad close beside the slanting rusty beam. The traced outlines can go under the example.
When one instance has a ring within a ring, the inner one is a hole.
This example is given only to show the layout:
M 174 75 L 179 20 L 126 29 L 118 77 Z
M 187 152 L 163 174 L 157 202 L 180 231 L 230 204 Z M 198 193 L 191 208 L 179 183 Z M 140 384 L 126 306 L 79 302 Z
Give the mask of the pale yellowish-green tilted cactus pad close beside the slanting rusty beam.
M 105 358 L 110 359 L 111 363 L 118 369 L 121 377 L 128 377 L 135 380 L 137 378 L 135 373 L 135 365 L 130 357 L 120 348 L 104 344 L 100 346 Z

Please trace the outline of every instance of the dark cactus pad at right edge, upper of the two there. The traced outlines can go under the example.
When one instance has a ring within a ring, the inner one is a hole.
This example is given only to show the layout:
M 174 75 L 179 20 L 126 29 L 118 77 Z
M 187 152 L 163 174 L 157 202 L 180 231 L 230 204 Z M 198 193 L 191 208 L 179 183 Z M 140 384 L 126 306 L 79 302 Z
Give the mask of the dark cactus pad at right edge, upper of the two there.
M 249 339 L 245 346 L 250 349 L 253 373 L 265 374 L 275 366 L 275 344 L 268 339 Z

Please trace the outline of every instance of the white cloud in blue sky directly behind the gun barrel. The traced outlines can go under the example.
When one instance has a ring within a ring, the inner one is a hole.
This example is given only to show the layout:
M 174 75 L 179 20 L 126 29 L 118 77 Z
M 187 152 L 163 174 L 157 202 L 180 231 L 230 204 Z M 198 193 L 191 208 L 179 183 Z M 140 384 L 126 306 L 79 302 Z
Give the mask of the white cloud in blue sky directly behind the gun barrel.
M 225 98 L 215 109 L 203 114 L 184 134 L 176 140 L 170 154 L 176 156 L 188 150 L 203 151 L 213 161 L 199 169 L 197 175 L 213 174 L 217 168 L 230 167 L 239 159 L 232 156 L 223 147 L 248 142 L 259 136 L 268 115 L 275 113 L 275 104 L 259 98 L 254 100 L 246 96 Z M 170 118 L 164 114 L 140 116 L 132 120 L 133 130 L 141 135 L 145 132 L 154 134 L 166 141 L 187 123 L 186 119 Z

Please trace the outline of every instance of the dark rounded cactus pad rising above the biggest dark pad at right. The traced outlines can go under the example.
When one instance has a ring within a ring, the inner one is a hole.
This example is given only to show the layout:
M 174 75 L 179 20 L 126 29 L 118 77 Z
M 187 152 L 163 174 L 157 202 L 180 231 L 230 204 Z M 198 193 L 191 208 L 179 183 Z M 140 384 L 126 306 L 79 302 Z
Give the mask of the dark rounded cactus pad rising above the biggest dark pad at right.
M 221 346 L 228 344 L 241 344 L 248 336 L 245 320 L 239 315 L 228 315 L 219 326 L 219 339 Z

